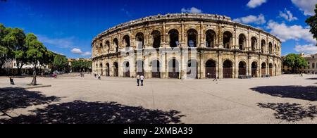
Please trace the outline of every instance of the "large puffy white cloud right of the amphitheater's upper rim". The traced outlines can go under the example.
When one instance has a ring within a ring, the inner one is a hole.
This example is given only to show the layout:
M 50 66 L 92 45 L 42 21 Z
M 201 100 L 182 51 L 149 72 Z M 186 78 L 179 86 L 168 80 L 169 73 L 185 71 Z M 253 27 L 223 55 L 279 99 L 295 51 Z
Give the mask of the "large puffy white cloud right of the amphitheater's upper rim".
M 267 29 L 271 30 L 271 34 L 280 38 L 282 42 L 289 39 L 299 40 L 304 39 L 306 42 L 316 44 L 316 39 L 309 32 L 309 27 L 302 27 L 301 25 L 287 26 L 285 23 L 276 23 L 273 20 L 268 22 Z

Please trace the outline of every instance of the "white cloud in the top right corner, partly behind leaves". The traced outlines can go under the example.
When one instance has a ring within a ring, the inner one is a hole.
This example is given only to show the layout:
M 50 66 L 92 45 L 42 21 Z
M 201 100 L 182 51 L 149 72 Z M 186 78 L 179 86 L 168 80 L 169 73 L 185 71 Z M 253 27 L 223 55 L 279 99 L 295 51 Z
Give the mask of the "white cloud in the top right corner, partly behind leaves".
M 304 15 L 315 15 L 317 0 L 292 0 L 292 2 L 300 11 L 304 11 Z

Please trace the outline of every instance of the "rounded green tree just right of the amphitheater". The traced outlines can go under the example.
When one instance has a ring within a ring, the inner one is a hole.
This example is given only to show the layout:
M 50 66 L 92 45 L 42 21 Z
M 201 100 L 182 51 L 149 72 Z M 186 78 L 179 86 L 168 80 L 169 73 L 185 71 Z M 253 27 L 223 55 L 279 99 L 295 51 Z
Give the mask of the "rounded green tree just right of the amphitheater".
M 283 65 L 287 65 L 292 68 L 292 73 L 297 73 L 299 68 L 308 67 L 308 63 L 305 58 L 297 54 L 288 54 L 283 61 Z

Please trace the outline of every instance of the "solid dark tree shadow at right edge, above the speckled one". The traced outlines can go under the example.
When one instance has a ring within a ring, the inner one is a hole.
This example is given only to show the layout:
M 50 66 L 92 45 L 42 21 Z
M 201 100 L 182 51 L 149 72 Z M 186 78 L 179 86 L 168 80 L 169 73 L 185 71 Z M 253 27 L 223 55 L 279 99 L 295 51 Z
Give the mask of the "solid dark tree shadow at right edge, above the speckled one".
M 315 86 L 264 86 L 251 88 L 251 90 L 282 98 L 303 99 L 308 101 L 317 100 L 317 87 Z

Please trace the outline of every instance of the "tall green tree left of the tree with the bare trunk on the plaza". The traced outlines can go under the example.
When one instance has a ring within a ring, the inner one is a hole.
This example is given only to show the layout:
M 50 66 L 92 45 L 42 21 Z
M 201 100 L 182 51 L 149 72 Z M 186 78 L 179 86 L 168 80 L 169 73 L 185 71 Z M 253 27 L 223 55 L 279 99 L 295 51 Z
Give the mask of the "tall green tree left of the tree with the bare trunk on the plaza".
M 18 75 L 21 75 L 22 66 L 27 63 L 25 51 L 27 46 L 25 45 L 25 33 L 19 28 L 11 30 L 6 37 L 4 37 L 4 43 L 11 51 L 12 57 L 16 61 L 18 68 Z

